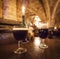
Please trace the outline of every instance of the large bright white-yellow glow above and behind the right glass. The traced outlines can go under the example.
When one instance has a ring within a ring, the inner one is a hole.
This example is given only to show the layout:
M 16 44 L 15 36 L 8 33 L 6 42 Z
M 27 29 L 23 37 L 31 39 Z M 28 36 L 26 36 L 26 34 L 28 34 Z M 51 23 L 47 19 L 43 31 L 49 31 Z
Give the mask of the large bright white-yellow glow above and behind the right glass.
M 35 16 L 34 18 L 34 24 L 37 28 L 48 28 L 48 22 L 47 23 L 43 23 L 41 22 L 41 19 L 39 18 L 39 16 Z

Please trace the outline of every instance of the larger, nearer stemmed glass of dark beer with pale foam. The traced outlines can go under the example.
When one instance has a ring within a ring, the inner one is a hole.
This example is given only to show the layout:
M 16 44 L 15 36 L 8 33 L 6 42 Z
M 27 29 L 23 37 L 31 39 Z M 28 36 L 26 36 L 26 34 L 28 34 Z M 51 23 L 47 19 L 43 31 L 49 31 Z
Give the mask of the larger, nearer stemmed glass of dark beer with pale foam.
M 18 41 L 18 49 L 14 51 L 14 53 L 22 54 L 27 52 L 27 49 L 21 47 L 21 43 L 23 40 L 26 39 L 27 33 L 28 33 L 28 30 L 26 28 L 13 30 L 14 37 Z

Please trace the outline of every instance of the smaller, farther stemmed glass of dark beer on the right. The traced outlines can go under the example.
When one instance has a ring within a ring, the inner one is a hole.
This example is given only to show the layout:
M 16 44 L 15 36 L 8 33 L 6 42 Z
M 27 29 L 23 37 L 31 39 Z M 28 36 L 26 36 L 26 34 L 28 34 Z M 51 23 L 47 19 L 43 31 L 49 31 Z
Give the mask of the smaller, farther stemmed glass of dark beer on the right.
M 39 37 L 41 38 L 40 48 L 48 48 L 48 46 L 45 43 L 45 40 L 48 36 L 48 29 L 40 29 L 39 30 Z

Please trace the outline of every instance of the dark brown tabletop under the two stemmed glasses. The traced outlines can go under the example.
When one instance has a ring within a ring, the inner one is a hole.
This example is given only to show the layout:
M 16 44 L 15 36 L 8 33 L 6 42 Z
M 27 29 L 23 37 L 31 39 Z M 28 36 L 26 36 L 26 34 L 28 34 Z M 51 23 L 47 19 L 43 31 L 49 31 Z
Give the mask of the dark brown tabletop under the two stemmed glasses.
M 22 44 L 27 52 L 21 55 L 13 53 L 17 42 L 0 45 L 0 59 L 60 59 L 60 38 L 46 39 L 47 49 L 37 48 L 33 42 Z

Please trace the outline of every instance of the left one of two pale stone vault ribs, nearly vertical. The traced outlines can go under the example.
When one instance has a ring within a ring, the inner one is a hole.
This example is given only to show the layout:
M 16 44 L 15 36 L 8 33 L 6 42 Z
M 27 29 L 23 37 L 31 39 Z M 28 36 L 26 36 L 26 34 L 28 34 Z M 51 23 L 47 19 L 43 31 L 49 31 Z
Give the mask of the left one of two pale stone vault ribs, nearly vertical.
M 45 13 L 46 13 L 46 19 L 48 22 L 48 26 L 50 25 L 50 6 L 48 0 L 43 0 L 44 3 L 44 8 L 45 8 Z

